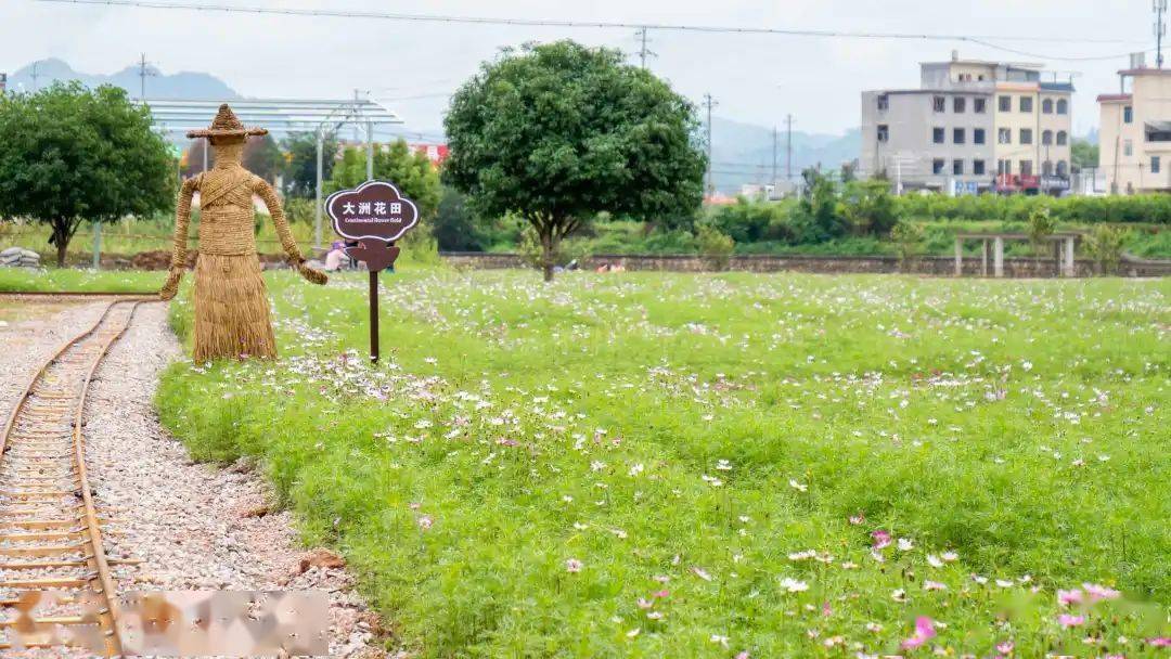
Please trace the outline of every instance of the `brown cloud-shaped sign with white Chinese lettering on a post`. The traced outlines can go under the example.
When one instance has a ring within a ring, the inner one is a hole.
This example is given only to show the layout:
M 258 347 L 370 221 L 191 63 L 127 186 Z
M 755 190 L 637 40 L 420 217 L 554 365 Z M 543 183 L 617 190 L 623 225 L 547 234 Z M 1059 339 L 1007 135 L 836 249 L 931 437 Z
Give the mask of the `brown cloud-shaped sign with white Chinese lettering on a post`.
M 393 184 L 368 180 L 326 199 L 334 231 L 345 239 L 345 253 L 370 270 L 370 361 L 378 363 L 378 273 L 395 265 L 395 241 L 419 224 L 419 210 Z

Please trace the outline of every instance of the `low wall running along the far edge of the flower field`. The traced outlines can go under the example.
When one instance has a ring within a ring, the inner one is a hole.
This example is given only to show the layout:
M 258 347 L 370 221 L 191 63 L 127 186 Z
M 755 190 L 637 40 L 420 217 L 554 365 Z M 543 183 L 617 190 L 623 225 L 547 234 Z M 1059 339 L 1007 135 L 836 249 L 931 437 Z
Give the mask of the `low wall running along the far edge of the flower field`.
M 485 254 L 480 252 L 448 252 L 441 254 L 444 261 L 459 268 L 501 269 L 522 268 L 523 261 L 516 254 Z M 594 269 L 602 265 L 622 265 L 628 270 L 666 270 L 682 273 L 710 272 L 707 259 L 684 255 L 596 255 L 587 259 L 582 267 Z M 981 261 L 977 256 L 964 259 L 964 274 L 979 275 Z M 988 266 L 992 267 L 991 263 Z M 753 273 L 911 273 L 936 276 L 954 276 L 956 259 L 953 256 L 922 256 L 902 267 L 895 256 L 733 256 L 730 269 Z M 1094 274 L 1091 261 L 1075 261 L 1077 276 Z M 1008 277 L 1053 277 L 1057 266 L 1053 259 L 1005 259 L 1005 276 Z M 1171 261 L 1128 260 L 1119 267 L 1119 274 L 1125 276 L 1171 276 Z

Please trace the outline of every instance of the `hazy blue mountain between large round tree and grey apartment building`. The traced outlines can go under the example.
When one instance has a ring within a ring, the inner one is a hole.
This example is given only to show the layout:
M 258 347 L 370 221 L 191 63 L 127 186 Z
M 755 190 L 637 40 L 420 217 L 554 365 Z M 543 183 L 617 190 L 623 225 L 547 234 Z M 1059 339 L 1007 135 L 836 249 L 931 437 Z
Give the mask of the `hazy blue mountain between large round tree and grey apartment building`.
M 776 131 L 776 176 L 785 180 L 787 135 Z M 857 159 L 862 132 L 851 129 L 844 135 L 793 132 L 793 176 L 821 165 L 838 170 L 842 163 Z M 771 183 L 773 177 L 773 129 L 720 117 L 712 118 L 712 179 L 715 188 L 737 193 L 740 186 Z

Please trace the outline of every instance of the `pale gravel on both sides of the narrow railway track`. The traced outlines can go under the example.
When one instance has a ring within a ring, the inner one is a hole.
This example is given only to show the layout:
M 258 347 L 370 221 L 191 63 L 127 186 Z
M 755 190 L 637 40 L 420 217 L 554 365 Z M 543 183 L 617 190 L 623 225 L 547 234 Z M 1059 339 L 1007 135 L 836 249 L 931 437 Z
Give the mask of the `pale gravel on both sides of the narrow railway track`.
M 102 303 L 52 318 L 0 328 L 0 413 L 27 378 L 68 336 L 93 322 Z M 111 556 L 139 565 L 115 568 L 121 590 L 324 590 L 329 592 L 330 657 L 377 658 L 377 619 L 328 552 L 297 545 L 288 513 L 268 513 L 269 490 L 247 469 L 193 464 L 159 425 L 151 399 L 160 371 L 179 358 L 166 306 L 138 308 L 90 385 L 87 459 Z M 15 382 L 13 379 L 15 378 Z M 302 571 L 306 558 L 311 565 Z

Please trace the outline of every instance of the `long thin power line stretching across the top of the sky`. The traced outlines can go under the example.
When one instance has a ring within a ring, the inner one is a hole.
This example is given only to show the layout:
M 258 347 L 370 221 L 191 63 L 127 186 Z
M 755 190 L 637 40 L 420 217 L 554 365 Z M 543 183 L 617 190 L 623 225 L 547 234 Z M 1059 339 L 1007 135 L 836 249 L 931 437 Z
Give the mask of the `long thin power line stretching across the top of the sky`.
M 105 5 L 111 7 L 138 7 L 146 9 L 186 9 L 197 12 L 227 12 L 241 14 L 280 14 L 288 16 L 317 16 L 317 18 L 342 18 L 342 19 L 381 19 L 395 21 L 418 21 L 418 22 L 447 22 L 447 23 L 472 23 L 492 26 L 523 26 L 523 27 L 566 27 L 566 28 L 615 28 L 615 29 L 656 29 L 670 32 L 698 32 L 717 34 L 772 34 L 782 36 L 810 36 L 810 37 L 834 37 L 834 39 L 898 39 L 917 41 L 967 41 L 998 48 L 988 41 L 1013 41 L 1033 43 L 1130 43 L 1132 40 L 1101 39 L 1101 37 L 1075 37 L 1075 36 L 1016 36 L 1016 35 L 964 35 L 964 34 L 931 34 L 931 33 L 897 33 L 897 32 L 850 32 L 833 29 L 807 29 L 807 28 L 771 28 L 771 27 L 744 27 L 744 26 L 703 26 L 686 23 L 639 23 L 622 21 L 573 21 L 554 19 L 507 19 L 488 16 L 458 16 L 444 14 L 402 14 L 391 12 L 363 12 L 342 9 L 297 9 L 281 7 L 242 7 L 233 5 L 215 5 L 210 2 L 162 2 L 152 0 L 37 0 L 39 2 L 56 2 L 66 5 Z M 1060 57 L 1049 57 L 1060 59 Z

